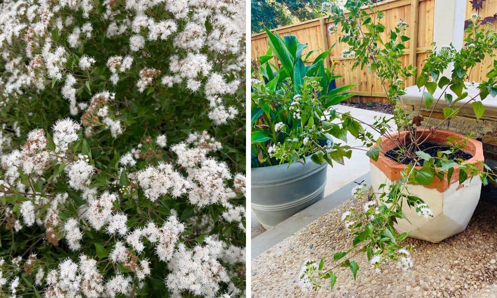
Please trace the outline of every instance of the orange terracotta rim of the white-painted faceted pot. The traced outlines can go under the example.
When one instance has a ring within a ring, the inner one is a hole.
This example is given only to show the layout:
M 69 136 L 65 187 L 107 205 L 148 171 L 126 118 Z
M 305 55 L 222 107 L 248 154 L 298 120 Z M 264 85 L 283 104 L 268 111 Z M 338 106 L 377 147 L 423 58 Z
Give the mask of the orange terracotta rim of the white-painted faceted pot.
M 425 134 L 428 134 L 428 141 L 431 142 L 437 142 L 441 143 L 446 141 L 447 137 L 454 137 L 456 139 L 456 142 L 458 144 L 462 144 L 461 140 L 467 140 L 467 147 L 465 150 L 468 153 L 471 153 L 473 157 L 469 158 L 468 160 L 465 160 L 463 164 L 472 164 L 479 169 L 483 170 L 483 161 L 485 160 L 483 157 L 483 145 L 482 142 L 472 139 L 472 138 L 467 138 L 457 132 L 451 131 L 451 130 L 437 130 L 435 135 L 432 135 L 429 129 L 419 129 L 417 132 L 420 132 L 422 136 Z M 399 139 L 406 138 L 408 136 L 408 131 L 402 131 L 399 133 L 393 133 L 391 134 L 392 137 L 398 137 Z M 437 140 L 437 138 L 442 138 L 441 140 Z M 459 141 L 459 142 L 458 142 Z M 371 148 L 376 148 L 377 145 L 374 145 Z M 382 137 L 380 140 L 380 149 L 383 152 L 386 152 L 390 149 L 394 149 L 397 146 L 390 141 L 387 137 Z M 401 172 L 408 166 L 407 164 L 401 164 L 398 163 L 397 161 L 394 161 L 384 155 L 380 155 L 378 157 L 378 160 L 373 160 L 370 158 L 370 163 L 375 165 L 378 169 L 380 169 L 391 181 L 397 181 L 402 178 Z M 422 166 L 416 166 L 416 169 L 422 168 Z M 426 188 L 434 188 L 439 190 L 440 192 L 443 192 L 449 188 L 449 186 L 455 182 L 459 182 L 459 166 L 456 165 L 454 166 L 454 173 L 451 176 L 450 183 L 447 182 L 447 176 L 444 175 L 443 180 L 440 181 L 440 179 L 435 179 L 432 184 L 430 185 L 422 185 Z M 473 176 L 468 175 L 468 178 L 471 178 Z M 411 183 L 410 183 L 411 184 Z

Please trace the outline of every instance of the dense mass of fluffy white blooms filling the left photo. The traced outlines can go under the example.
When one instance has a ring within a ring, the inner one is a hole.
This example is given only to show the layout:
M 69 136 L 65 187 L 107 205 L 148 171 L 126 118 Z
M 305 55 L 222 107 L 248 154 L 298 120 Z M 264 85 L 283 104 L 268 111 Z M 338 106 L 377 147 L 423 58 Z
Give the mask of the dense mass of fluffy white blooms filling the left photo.
M 0 12 L 0 296 L 245 296 L 244 1 Z

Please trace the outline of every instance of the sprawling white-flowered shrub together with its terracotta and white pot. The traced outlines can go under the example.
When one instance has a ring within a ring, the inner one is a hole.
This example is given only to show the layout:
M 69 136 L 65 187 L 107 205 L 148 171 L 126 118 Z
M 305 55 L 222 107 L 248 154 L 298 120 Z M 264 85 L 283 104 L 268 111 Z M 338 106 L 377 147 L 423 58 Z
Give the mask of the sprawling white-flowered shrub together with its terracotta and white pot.
M 412 236 L 439 242 L 464 230 L 480 199 L 481 184 L 496 177 L 484 164 L 481 142 L 472 139 L 470 132 L 463 136 L 438 129 L 467 105 L 471 105 L 476 118 L 481 118 L 485 111 L 482 100 L 497 95 L 496 60 L 492 61 L 488 80 L 477 83 L 478 94 L 468 96 L 465 84 L 475 65 L 486 55 L 495 56 L 496 32 L 478 22 L 479 16 L 475 15 L 466 29 L 462 49 L 434 45 L 416 79 L 421 104 L 433 111 L 437 103 L 446 103 L 443 119 L 432 124 L 432 113 L 423 118 L 418 111 L 410 117 L 399 105 L 406 78 L 416 74 L 415 67 L 404 66 L 401 59 L 405 42 L 410 39 L 406 36 L 409 24 L 399 20 L 385 38 L 382 33 L 386 28 L 381 23 L 384 14 L 375 10 L 372 1 L 343 2 L 325 5 L 331 11 L 330 19 L 340 28 L 339 42 L 350 46 L 344 54 L 353 58 L 352 68 L 367 68 L 378 76 L 394 113 L 392 119 L 381 117 L 370 125 L 381 134 L 375 145 L 363 144 L 362 149 L 371 158 L 372 186 L 356 187 L 352 194 L 364 201 L 363 209 L 351 209 L 342 215 L 353 239 L 350 249 L 336 252 L 330 268 L 325 268 L 323 259 L 306 262 L 299 274 L 304 290 L 316 290 L 323 278 L 329 279 L 333 288 L 333 271 L 338 267 L 350 268 L 355 279 L 359 265 L 353 258 L 358 253 L 367 254 L 369 265 L 376 270 L 386 263 L 410 269 L 414 247 L 404 246 L 401 241 Z M 396 127 L 390 127 L 389 120 Z

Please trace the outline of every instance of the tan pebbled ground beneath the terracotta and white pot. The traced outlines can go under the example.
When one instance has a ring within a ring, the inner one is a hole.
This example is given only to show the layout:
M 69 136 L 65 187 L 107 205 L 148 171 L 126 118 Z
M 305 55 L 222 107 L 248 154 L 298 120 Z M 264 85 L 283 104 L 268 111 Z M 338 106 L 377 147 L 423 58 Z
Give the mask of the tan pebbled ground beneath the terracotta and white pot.
M 378 275 L 369 270 L 366 256 L 360 255 L 357 281 L 349 269 L 340 268 L 331 292 L 324 284 L 318 292 L 302 293 L 297 285 L 302 264 L 324 257 L 325 264 L 331 265 L 333 253 L 344 251 L 346 241 L 351 243 L 340 222 L 341 214 L 351 206 L 361 208 L 360 202 L 350 199 L 254 258 L 252 297 L 497 298 L 497 205 L 484 199 L 464 232 L 438 244 L 404 240 L 416 247 L 412 270 L 404 272 L 391 264 Z

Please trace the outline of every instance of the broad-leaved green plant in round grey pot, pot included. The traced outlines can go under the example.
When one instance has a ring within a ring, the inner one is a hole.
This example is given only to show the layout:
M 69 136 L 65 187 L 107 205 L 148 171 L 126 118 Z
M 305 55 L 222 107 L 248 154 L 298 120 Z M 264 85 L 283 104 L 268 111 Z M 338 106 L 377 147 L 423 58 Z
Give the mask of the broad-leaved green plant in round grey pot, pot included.
M 307 45 L 295 36 L 267 34 L 269 51 L 256 62 L 252 80 L 251 206 L 259 222 L 271 228 L 323 198 L 325 160 L 343 163 L 350 156 L 348 146 L 327 135 L 345 139 L 347 125 L 356 136 L 362 131 L 347 115 L 345 124 L 331 123 L 342 117 L 330 113 L 332 105 L 352 96 L 343 93 L 351 86 L 330 89 L 338 76 L 325 69 L 323 59 L 331 49 L 308 63 L 314 51 L 303 58 Z M 281 67 L 269 63 L 273 53 Z

